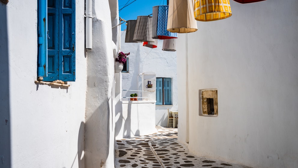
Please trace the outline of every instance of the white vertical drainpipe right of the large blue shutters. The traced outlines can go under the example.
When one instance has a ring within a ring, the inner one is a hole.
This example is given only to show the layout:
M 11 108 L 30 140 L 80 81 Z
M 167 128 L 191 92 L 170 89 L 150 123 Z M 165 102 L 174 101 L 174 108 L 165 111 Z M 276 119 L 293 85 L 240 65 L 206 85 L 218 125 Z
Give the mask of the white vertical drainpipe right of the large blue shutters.
M 86 48 L 92 49 L 92 0 L 86 0 Z

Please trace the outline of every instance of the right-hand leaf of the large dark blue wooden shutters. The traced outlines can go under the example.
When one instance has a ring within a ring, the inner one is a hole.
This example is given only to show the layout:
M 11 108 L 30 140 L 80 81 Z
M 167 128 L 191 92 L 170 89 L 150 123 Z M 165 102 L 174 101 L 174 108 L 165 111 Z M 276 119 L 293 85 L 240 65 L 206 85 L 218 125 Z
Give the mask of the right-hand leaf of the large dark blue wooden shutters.
M 75 81 L 75 0 L 59 4 L 59 80 Z

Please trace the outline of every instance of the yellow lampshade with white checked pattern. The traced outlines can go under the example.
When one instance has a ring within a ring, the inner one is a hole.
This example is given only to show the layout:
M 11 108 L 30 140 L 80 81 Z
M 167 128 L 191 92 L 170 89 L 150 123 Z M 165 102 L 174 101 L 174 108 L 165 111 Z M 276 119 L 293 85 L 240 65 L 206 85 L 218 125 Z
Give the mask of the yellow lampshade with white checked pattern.
M 232 16 L 229 0 L 195 0 L 194 15 L 198 21 L 212 21 Z

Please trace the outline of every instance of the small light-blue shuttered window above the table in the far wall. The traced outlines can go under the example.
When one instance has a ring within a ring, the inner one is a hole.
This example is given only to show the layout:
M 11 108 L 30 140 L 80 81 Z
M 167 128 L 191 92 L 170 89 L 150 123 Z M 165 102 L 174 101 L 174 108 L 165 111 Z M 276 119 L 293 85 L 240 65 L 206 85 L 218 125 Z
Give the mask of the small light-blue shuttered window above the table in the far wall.
M 171 78 L 156 78 L 156 105 L 172 105 Z

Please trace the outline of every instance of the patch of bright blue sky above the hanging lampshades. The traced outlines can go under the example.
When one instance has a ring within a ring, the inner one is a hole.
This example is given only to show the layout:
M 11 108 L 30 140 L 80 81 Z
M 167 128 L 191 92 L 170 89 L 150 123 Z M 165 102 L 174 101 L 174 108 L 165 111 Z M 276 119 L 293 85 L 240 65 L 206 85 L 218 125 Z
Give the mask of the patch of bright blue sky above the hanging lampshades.
M 167 5 L 167 0 L 118 0 L 119 9 L 123 8 L 126 2 L 130 5 L 126 6 L 119 12 L 119 17 L 124 20 L 136 20 L 138 16 L 152 14 L 152 7 L 156 5 Z M 126 29 L 125 23 L 121 24 L 121 30 Z

